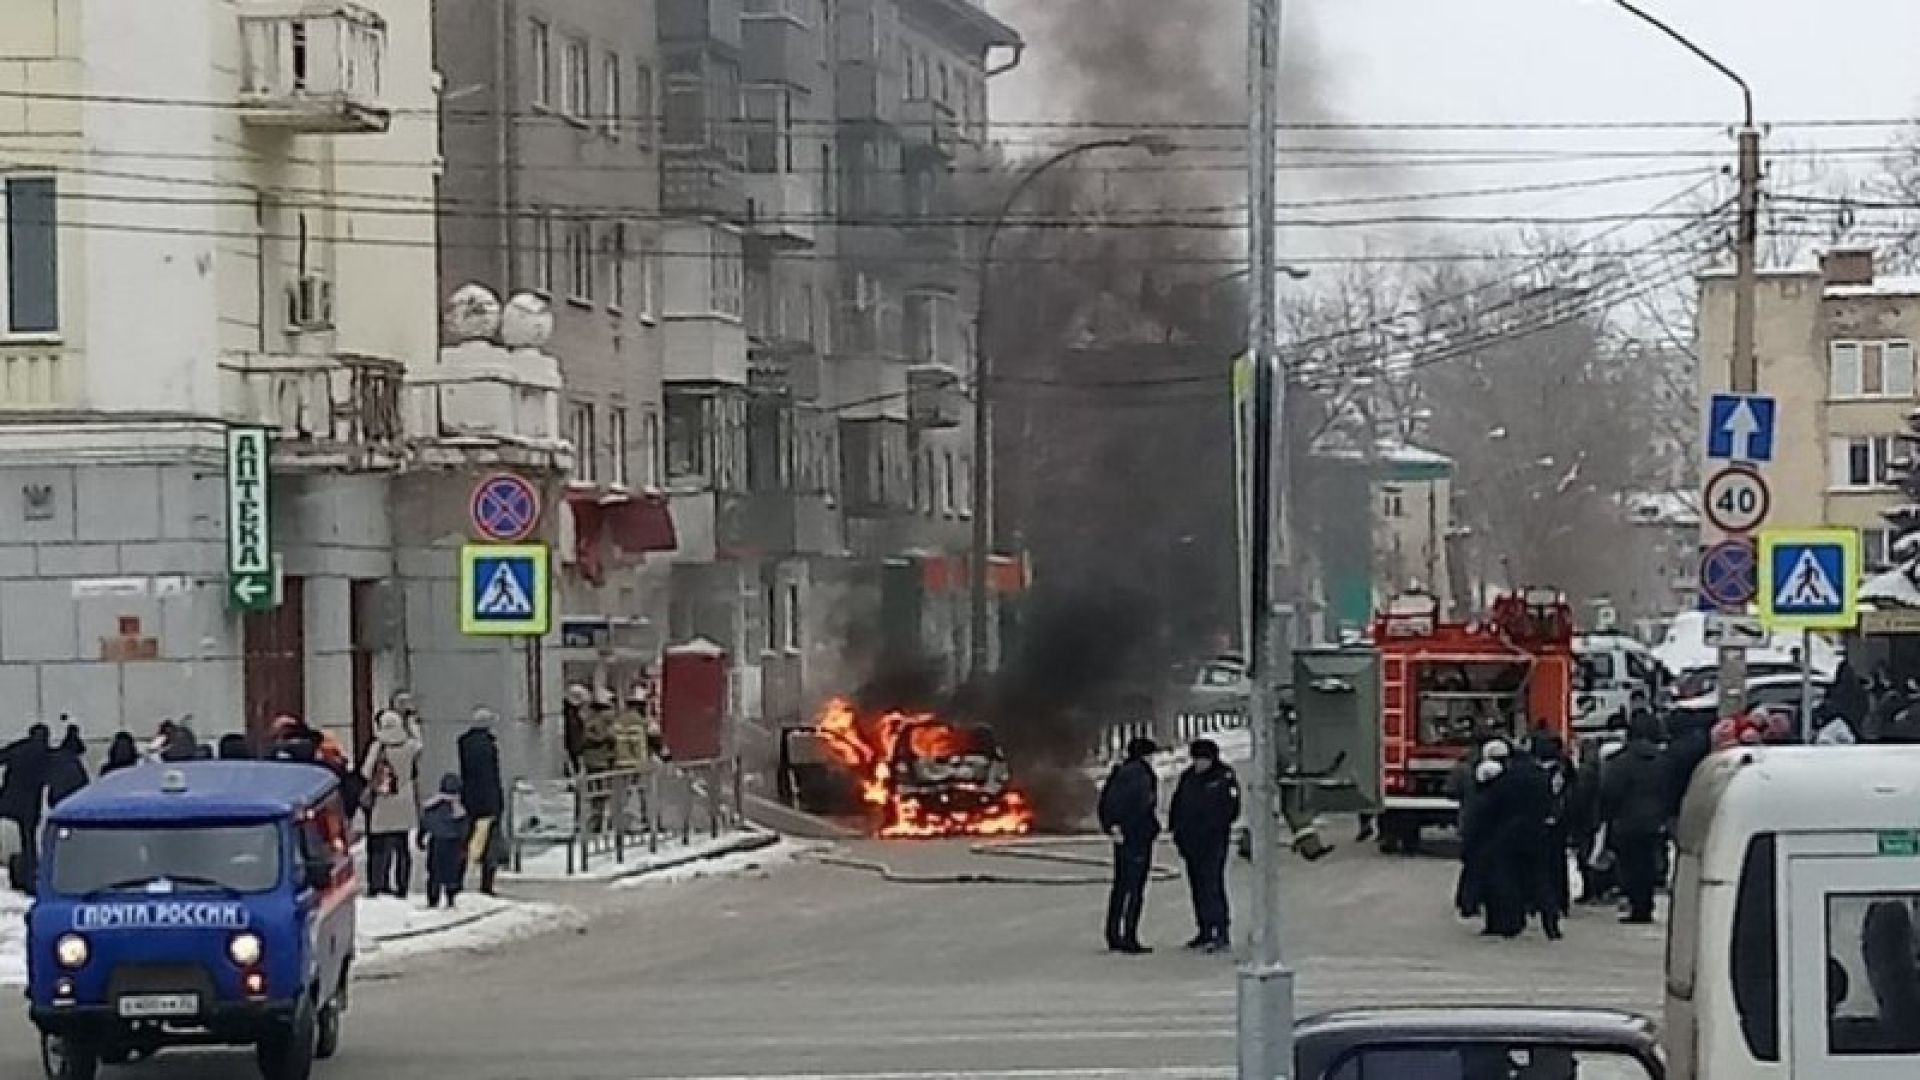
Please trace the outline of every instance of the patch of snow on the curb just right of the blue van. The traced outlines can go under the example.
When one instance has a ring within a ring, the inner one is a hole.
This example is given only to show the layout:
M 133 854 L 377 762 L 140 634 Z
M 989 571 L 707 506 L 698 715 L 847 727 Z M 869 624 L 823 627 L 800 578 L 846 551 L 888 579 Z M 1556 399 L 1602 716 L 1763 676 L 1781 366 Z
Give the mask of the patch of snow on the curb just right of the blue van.
M 568 907 L 478 892 L 461 894 L 459 907 L 426 907 L 420 896 L 378 896 L 359 901 L 357 944 L 365 970 L 424 953 L 488 949 L 578 924 L 580 915 Z

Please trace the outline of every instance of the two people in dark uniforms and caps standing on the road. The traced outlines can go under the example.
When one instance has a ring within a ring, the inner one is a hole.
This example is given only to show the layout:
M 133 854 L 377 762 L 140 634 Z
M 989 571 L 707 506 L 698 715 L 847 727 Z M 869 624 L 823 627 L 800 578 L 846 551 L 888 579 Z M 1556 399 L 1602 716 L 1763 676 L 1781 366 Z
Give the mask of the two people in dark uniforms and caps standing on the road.
M 1154 842 L 1160 840 L 1160 776 L 1152 757 L 1160 748 L 1150 738 L 1127 744 L 1127 757 L 1100 788 L 1100 830 L 1114 842 L 1114 884 L 1106 901 L 1106 947 L 1142 955 L 1140 911 L 1146 882 L 1154 874 Z M 1196 934 L 1188 949 L 1208 953 L 1233 945 L 1227 905 L 1227 853 L 1233 822 L 1240 817 L 1240 780 L 1219 759 L 1213 740 L 1194 740 L 1187 748 L 1188 767 L 1173 788 L 1167 824 L 1173 847 L 1187 867 L 1192 890 Z

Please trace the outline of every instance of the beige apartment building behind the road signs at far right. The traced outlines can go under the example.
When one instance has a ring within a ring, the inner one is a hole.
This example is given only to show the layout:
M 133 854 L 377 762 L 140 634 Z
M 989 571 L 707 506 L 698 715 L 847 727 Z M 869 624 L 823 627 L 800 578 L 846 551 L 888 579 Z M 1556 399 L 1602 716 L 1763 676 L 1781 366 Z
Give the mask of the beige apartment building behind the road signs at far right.
M 1728 386 L 1734 279 L 1701 281 L 1701 398 Z M 1905 502 L 1889 465 L 1914 409 L 1920 279 L 1874 273 L 1868 250 L 1830 250 L 1820 267 L 1763 271 L 1759 392 L 1778 402 L 1770 527 L 1860 530 L 1868 569 L 1891 565 L 1884 511 Z M 1711 527 L 1707 527 L 1711 532 Z M 1709 536 L 1711 540 L 1711 536 Z

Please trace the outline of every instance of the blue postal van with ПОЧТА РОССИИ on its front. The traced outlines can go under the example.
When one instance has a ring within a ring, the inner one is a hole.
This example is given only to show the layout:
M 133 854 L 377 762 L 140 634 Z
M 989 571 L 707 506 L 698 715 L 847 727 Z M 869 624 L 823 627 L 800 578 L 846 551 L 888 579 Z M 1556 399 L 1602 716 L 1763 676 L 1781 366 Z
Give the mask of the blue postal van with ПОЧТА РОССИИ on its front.
M 334 774 L 140 765 L 48 817 L 27 997 L 50 1080 L 180 1045 L 305 1080 L 340 1045 L 359 884 Z

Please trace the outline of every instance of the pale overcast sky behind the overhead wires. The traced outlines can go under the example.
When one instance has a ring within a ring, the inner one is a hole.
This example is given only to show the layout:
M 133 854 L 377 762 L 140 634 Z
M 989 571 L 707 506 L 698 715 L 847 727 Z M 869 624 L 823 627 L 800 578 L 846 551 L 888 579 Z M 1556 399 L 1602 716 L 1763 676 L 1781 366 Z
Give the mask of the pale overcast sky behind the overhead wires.
M 991 0 L 1021 25 L 1031 48 L 1020 71 L 995 86 L 995 119 L 1073 119 L 1046 79 L 1052 42 L 1023 6 L 1087 0 Z M 1240 0 L 1217 0 L 1244 23 Z M 1920 0 L 1642 0 L 1755 90 L 1759 117 L 1776 123 L 1768 150 L 1830 148 L 1828 161 L 1862 163 L 1845 148 L 1878 146 L 1891 127 L 1811 129 L 1791 121 L 1920 115 Z M 1611 0 L 1286 0 L 1286 27 L 1309 35 L 1323 58 L 1340 119 L 1377 121 L 1728 121 L 1738 90 L 1699 60 Z M 1181 27 L 1167 27 L 1181 33 Z M 1238 38 L 1229 44 L 1238 44 Z M 1298 44 L 1298 42 L 1296 42 Z M 1400 148 L 1503 148 L 1561 152 L 1726 152 L 1726 131 L 1626 133 L 1402 133 Z M 1834 152 L 1832 148 L 1839 148 Z M 1555 165 L 1421 165 L 1396 177 L 1400 190 L 1448 190 L 1601 179 L 1713 165 L 1713 158 L 1582 160 Z M 1352 179 L 1352 173 L 1348 175 Z M 1327 175 L 1294 175 L 1296 194 L 1342 186 Z M 1283 194 L 1288 177 L 1283 177 Z M 1540 215 L 1626 213 L 1672 194 L 1690 179 L 1609 184 L 1594 190 L 1446 204 Z M 1400 234 L 1404 238 L 1404 234 Z M 1373 236 L 1371 240 L 1390 240 Z M 1308 238 L 1290 244 L 1313 246 Z

